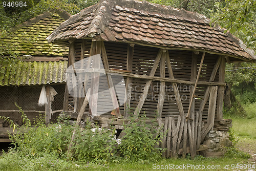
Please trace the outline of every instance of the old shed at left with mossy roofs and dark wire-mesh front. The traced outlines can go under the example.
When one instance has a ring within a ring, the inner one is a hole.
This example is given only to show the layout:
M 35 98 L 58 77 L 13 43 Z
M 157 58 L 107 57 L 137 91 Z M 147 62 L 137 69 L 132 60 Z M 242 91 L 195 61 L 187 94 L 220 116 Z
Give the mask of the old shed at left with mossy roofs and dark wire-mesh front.
M 15 26 L 10 34 L 0 39 L 1 53 L 4 55 L 1 57 L 12 58 L 13 54 L 20 57 L 11 65 L 0 62 L 0 66 L 5 68 L 0 74 L 1 116 L 10 117 L 17 125 L 22 125 L 15 102 L 31 120 L 39 113 L 44 114 L 49 108 L 38 106 L 44 85 L 47 90 L 53 87 L 58 93 L 52 101 L 52 116 L 49 112 L 47 114 L 51 116 L 47 122 L 54 122 L 62 111 L 69 49 L 49 44 L 46 37 L 69 17 L 70 14 L 62 10 L 45 12 Z M 8 130 L 12 130 L 9 123 L 0 120 L 0 142 L 10 141 Z

